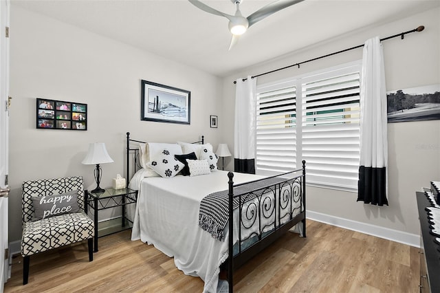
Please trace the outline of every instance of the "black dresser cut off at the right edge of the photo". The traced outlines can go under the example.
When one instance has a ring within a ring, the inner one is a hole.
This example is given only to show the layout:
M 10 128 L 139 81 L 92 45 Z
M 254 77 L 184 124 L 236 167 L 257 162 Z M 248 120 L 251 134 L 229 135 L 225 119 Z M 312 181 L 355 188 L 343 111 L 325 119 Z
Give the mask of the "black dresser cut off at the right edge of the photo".
M 427 206 L 432 206 L 425 193 L 417 192 L 420 221 L 420 292 L 440 293 L 440 246 L 430 233 Z

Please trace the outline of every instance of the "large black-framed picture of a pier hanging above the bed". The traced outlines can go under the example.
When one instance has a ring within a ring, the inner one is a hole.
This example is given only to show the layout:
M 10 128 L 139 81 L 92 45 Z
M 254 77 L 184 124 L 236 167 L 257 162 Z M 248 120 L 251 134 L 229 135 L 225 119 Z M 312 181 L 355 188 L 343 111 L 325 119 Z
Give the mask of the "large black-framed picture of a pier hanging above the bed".
M 141 120 L 190 124 L 191 92 L 141 80 Z

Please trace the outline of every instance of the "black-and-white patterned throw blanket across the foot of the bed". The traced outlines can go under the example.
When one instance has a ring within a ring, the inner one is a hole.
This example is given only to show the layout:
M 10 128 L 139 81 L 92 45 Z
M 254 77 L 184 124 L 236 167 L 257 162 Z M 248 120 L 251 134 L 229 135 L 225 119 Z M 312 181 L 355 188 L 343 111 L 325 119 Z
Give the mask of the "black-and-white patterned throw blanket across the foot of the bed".
M 267 178 L 234 188 L 234 195 L 241 194 L 241 204 L 259 197 L 267 187 L 285 182 L 288 178 Z M 239 198 L 234 197 L 233 208 L 239 207 Z M 204 197 L 200 202 L 199 226 L 210 233 L 212 238 L 225 241 L 225 226 L 229 220 L 228 191 L 217 191 Z

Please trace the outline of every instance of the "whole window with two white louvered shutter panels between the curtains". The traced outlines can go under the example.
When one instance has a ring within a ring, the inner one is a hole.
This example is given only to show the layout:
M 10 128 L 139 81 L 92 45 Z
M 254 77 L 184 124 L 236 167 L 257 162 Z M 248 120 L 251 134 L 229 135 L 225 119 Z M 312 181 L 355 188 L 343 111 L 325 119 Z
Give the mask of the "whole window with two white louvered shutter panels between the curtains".
M 257 87 L 257 174 L 306 160 L 309 184 L 358 188 L 360 68 L 357 61 Z

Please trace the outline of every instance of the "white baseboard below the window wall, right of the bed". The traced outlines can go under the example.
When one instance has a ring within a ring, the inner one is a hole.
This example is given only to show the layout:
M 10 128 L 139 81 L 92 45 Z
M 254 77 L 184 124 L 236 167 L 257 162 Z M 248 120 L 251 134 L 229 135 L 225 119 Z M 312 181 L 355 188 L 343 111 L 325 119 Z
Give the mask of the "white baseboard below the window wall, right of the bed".
M 410 234 L 407 232 L 402 232 L 399 230 L 393 230 L 380 226 L 374 226 L 371 224 L 365 224 L 360 221 L 352 221 L 349 219 L 316 213 L 311 210 L 307 210 L 306 216 L 307 219 L 311 219 L 314 221 L 320 221 L 325 224 L 338 226 L 356 232 L 362 232 L 364 234 L 373 235 L 375 237 L 380 237 L 383 239 L 388 239 L 391 241 L 404 243 L 409 246 L 420 248 L 420 235 Z

